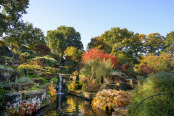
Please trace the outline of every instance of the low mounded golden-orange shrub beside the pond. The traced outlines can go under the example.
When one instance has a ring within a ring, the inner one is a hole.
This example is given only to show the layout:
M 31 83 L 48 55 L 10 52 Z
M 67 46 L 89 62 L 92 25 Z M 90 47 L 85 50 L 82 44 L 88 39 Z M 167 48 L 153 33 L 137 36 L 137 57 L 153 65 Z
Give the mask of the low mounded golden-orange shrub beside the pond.
M 104 89 L 96 94 L 92 101 L 92 107 L 94 110 L 96 108 L 106 110 L 106 107 L 111 110 L 115 107 L 124 107 L 128 105 L 129 102 L 130 98 L 126 92 L 121 90 Z

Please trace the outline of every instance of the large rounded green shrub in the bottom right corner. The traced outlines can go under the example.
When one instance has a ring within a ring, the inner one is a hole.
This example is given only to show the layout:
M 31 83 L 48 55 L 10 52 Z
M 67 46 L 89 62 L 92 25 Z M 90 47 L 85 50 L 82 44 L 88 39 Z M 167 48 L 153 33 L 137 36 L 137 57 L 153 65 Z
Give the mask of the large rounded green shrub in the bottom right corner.
M 174 95 L 156 95 L 163 93 L 174 94 L 174 73 L 153 74 L 143 84 L 139 84 L 131 94 L 128 116 L 173 116 Z M 150 97 L 152 95 L 156 96 Z M 150 98 L 146 99 L 147 97 Z M 142 103 L 138 106 L 140 102 Z

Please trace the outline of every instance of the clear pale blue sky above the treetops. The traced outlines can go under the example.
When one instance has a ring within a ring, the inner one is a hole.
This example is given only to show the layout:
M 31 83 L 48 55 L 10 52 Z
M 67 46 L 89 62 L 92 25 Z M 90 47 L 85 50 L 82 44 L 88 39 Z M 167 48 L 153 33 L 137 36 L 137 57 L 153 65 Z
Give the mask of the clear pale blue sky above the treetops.
M 30 0 L 25 22 L 46 33 L 65 25 L 81 34 L 86 49 L 90 39 L 112 27 L 134 33 L 174 31 L 174 0 Z

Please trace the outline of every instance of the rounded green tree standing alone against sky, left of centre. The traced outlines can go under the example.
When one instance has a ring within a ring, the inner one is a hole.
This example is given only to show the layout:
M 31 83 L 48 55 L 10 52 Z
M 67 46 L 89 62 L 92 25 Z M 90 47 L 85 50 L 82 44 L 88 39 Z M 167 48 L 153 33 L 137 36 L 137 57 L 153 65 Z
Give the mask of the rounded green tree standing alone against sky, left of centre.
M 73 27 L 60 26 L 56 30 L 48 31 L 46 41 L 51 51 L 60 56 L 63 56 L 66 48 L 70 46 L 83 49 L 80 33 Z

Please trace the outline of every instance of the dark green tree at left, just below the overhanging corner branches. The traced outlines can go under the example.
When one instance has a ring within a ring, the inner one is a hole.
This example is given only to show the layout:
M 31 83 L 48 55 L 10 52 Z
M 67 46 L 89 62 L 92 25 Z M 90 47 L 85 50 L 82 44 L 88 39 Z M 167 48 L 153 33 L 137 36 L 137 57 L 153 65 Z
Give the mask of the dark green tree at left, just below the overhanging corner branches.
M 31 23 L 18 23 L 18 26 L 8 30 L 7 36 L 3 39 L 18 47 L 33 48 L 37 44 L 45 43 L 43 31 L 40 28 L 34 28 Z

